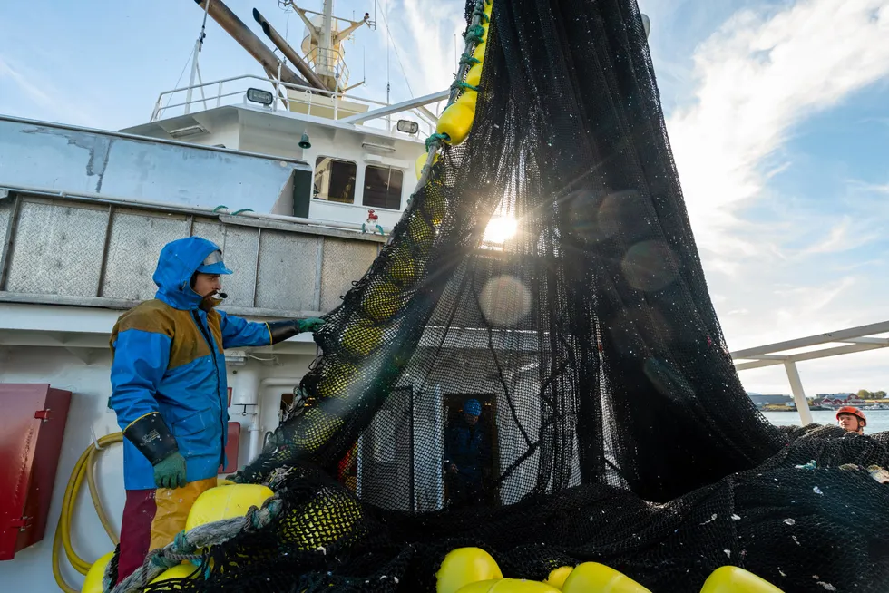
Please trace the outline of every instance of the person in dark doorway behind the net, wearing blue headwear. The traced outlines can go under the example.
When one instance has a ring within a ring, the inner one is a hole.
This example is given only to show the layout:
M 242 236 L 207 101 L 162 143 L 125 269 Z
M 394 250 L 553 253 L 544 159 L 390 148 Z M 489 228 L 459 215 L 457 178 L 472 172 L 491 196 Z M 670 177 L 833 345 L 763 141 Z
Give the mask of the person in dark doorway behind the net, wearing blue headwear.
M 469 399 L 463 405 L 462 417 L 447 431 L 445 439 L 445 475 L 448 503 L 452 507 L 478 503 L 484 496 L 484 462 L 490 460 L 490 449 L 478 418 L 482 404 Z

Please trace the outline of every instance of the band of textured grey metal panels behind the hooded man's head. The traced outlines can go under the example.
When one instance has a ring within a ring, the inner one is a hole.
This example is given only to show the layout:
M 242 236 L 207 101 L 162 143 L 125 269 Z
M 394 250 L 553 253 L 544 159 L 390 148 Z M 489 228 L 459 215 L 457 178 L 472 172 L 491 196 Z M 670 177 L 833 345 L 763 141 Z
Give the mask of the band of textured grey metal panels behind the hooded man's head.
M 123 308 L 154 297 L 161 248 L 189 234 L 223 249 L 234 274 L 226 306 L 240 315 L 324 312 L 339 304 L 376 258 L 378 242 L 344 231 L 268 221 L 228 221 L 156 207 L 19 193 L 0 200 L 5 286 L 0 300 Z M 327 232 L 335 235 L 331 237 Z M 251 313 L 251 310 L 253 313 Z

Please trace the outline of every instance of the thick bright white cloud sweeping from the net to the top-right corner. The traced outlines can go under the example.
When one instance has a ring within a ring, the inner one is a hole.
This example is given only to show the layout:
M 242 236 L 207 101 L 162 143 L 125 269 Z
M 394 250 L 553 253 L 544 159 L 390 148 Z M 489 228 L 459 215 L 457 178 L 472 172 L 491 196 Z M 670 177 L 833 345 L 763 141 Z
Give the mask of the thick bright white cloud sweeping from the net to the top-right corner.
M 884 0 L 804 0 L 742 10 L 699 45 L 694 100 L 667 127 L 695 236 L 714 260 L 760 251 L 738 238 L 739 209 L 786 166 L 769 162 L 799 122 L 889 73 L 887 36 Z

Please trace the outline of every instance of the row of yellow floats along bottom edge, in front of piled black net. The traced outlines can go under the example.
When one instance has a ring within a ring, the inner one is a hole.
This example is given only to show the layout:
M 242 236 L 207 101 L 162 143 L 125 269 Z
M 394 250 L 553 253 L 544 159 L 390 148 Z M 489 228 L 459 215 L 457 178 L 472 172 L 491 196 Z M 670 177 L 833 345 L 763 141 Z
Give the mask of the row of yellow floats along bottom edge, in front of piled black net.
M 503 578 L 484 549 L 458 548 L 435 575 L 436 593 L 651 593 L 630 577 L 598 562 L 554 569 L 544 581 Z M 700 593 L 781 593 L 755 574 L 733 566 L 713 571 Z

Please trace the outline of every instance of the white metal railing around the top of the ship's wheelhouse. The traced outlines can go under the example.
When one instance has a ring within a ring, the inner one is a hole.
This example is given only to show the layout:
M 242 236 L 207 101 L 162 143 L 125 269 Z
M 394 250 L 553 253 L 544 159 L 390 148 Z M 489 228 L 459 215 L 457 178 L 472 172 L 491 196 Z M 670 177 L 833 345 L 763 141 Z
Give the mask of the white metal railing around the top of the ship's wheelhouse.
M 340 111 L 346 115 L 357 114 L 360 111 L 343 105 L 343 102 L 352 102 L 366 105 L 370 109 L 389 107 L 390 103 L 368 99 L 366 97 L 358 97 L 347 95 L 344 92 L 319 91 L 318 89 L 302 84 L 284 83 L 274 78 L 265 78 L 255 74 L 241 74 L 230 78 L 223 78 L 217 81 L 195 84 L 193 86 L 182 86 L 170 91 L 163 91 L 158 95 L 157 101 L 154 102 L 154 109 L 151 112 L 151 122 L 157 122 L 161 119 L 175 117 L 183 113 L 191 112 L 194 109 L 208 110 L 222 105 L 243 104 L 244 97 L 249 88 L 263 88 L 272 92 L 275 97 L 269 106 L 271 111 L 277 112 L 279 106 L 288 110 L 288 102 L 298 102 L 307 105 L 308 115 L 313 115 L 312 109 L 318 108 L 320 105 L 313 102 L 317 101 L 317 97 L 324 96 L 333 102 L 334 119 L 340 119 Z M 190 91 L 190 99 L 188 94 Z M 288 96 L 288 91 L 300 92 L 295 96 Z M 305 92 L 305 94 L 302 94 Z M 185 93 L 181 100 L 177 97 L 180 93 Z M 238 100 L 234 100 L 234 98 Z M 325 111 L 330 109 L 330 105 L 325 102 L 323 105 Z M 435 131 L 435 122 L 432 121 L 420 109 L 405 109 L 403 113 L 409 113 L 415 121 L 420 124 L 420 131 L 416 134 L 419 138 L 425 138 Z M 391 131 L 392 122 L 397 120 L 397 113 L 389 113 L 385 117 L 368 119 L 362 122 L 362 125 L 368 125 L 374 128 L 382 128 Z

